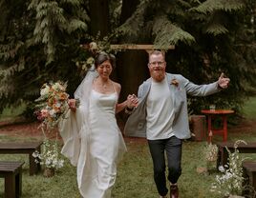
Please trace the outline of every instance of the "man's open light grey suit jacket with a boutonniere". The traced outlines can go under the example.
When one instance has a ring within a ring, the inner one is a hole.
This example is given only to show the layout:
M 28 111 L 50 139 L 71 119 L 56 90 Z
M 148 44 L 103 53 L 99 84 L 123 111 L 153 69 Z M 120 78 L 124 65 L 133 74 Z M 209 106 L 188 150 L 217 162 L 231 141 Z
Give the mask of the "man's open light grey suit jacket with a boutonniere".
M 174 107 L 173 130 L 176 137 L 180 139 L 190 138 L 188 124 L 187 98 L 186 94 L 192 96 L 206 96 L 220 91 L 218 82 L 208 85 L 195 85 L 180 74 L 166 73 L 167 82 Z M 176 79 L 179 85 L 172 84 Z M 149 78 L 139 86 L 139 105 L 129 116 L 125 127 L 126 136 L 146 137 L 146 100 L 151 87 L 152 79 Z M 171 112 L 172 109 L 170 109 Z

